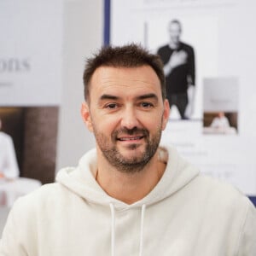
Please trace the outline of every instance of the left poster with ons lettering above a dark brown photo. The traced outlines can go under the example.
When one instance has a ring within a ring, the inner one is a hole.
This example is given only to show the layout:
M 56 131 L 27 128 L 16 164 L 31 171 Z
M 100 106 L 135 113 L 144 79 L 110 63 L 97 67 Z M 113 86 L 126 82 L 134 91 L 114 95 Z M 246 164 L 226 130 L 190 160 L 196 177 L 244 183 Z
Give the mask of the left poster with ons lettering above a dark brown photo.
M 61 0 L 0 1 L 0 133 L 14 142 L 19 176 L 42 183 L 55 178 L 62 12 Z

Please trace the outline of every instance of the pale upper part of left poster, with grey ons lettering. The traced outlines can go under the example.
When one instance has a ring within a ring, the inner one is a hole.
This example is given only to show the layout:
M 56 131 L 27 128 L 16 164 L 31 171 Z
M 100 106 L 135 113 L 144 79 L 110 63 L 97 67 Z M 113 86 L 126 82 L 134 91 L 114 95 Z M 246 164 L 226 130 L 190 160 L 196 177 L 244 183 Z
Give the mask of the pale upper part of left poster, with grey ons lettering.
M 61 101 L 62 1 L 0 1 L 0 106 Z

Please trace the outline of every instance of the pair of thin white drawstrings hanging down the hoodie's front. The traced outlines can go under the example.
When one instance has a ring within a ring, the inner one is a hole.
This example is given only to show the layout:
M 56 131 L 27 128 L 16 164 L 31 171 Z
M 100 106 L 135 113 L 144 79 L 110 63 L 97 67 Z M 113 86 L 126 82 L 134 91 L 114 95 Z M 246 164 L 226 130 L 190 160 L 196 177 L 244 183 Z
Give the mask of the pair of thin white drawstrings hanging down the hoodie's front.
M 115 256 L 115 212 L 113 203 L 109 204 L 111 210 L 111 256 Z M 139 256 L 143 256 L 143 228 L 144 228 L 144 218 L 145 218 L 146 205 L 143 204 L 141 213 L 141 231 L 140 231 L 140 250 Z

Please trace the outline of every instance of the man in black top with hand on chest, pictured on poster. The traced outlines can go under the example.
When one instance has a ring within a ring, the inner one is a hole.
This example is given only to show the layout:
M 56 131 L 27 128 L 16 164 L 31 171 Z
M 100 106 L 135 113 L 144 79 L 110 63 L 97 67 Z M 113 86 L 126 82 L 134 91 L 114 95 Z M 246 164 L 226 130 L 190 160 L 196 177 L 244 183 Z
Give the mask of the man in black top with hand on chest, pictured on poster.
M 169 23 L 169 44 L 158 50 L 164 63 L 167 99 L 170 106 L 175 105 L 182 119 L 189 119 L 194 110 L 195 95 L 195 54 L 189 44 L 180 41 L 181 23 Z

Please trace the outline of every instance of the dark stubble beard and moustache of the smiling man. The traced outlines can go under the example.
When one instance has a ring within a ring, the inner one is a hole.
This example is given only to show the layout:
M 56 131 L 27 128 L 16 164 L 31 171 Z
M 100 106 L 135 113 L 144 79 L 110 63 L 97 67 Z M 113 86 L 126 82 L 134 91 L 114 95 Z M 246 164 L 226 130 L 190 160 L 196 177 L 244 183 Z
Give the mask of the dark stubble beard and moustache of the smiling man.
M 147 129 L 134 128 L 132 130 L 128 130 L 126 128 L 123 128 L 118 131 L 113 131 L 110 143 L 109 138 L 106 137 L 104 134 L 98 132 L 95 128 L 96 127 L 94 127 L 94 132 L 98 147 L 101 149 L 105 159 L 108 160 L 108 163 L 111 166 L 115 167 L 119 172 L 135 173 L 142 171 L 143 168 L 147 166 L 149 160 L 152 159 L 160 144 L 160 127 L 154 133 L 151 139 L 149 137 L 149 132 Z M 140 152 L 139 154 L 134 154 L 131 157 L 126 157 L 125 155 L 121 154 L 117 147 L 117 137 L 119 134 L 125 134 L 130 136 L 143 134 L 145 146 L 138 145 L 137 143 L 131 143 L 129 146 L 127 146 L 127 149 L 129 150 L 136 150 L 138 147 L 144 147 L 143 152 Z

